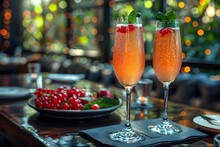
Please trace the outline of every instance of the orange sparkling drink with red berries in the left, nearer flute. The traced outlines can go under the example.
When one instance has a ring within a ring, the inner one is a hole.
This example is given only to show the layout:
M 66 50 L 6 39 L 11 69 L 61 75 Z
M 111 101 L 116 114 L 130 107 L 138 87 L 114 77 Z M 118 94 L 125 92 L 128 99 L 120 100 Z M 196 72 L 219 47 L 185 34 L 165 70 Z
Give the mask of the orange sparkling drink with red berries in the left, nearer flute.
M 116 77 L 123 86 L 133 86 L 140 80 L 145 66 L 141 25 L 117 25 L 113 66 Z

